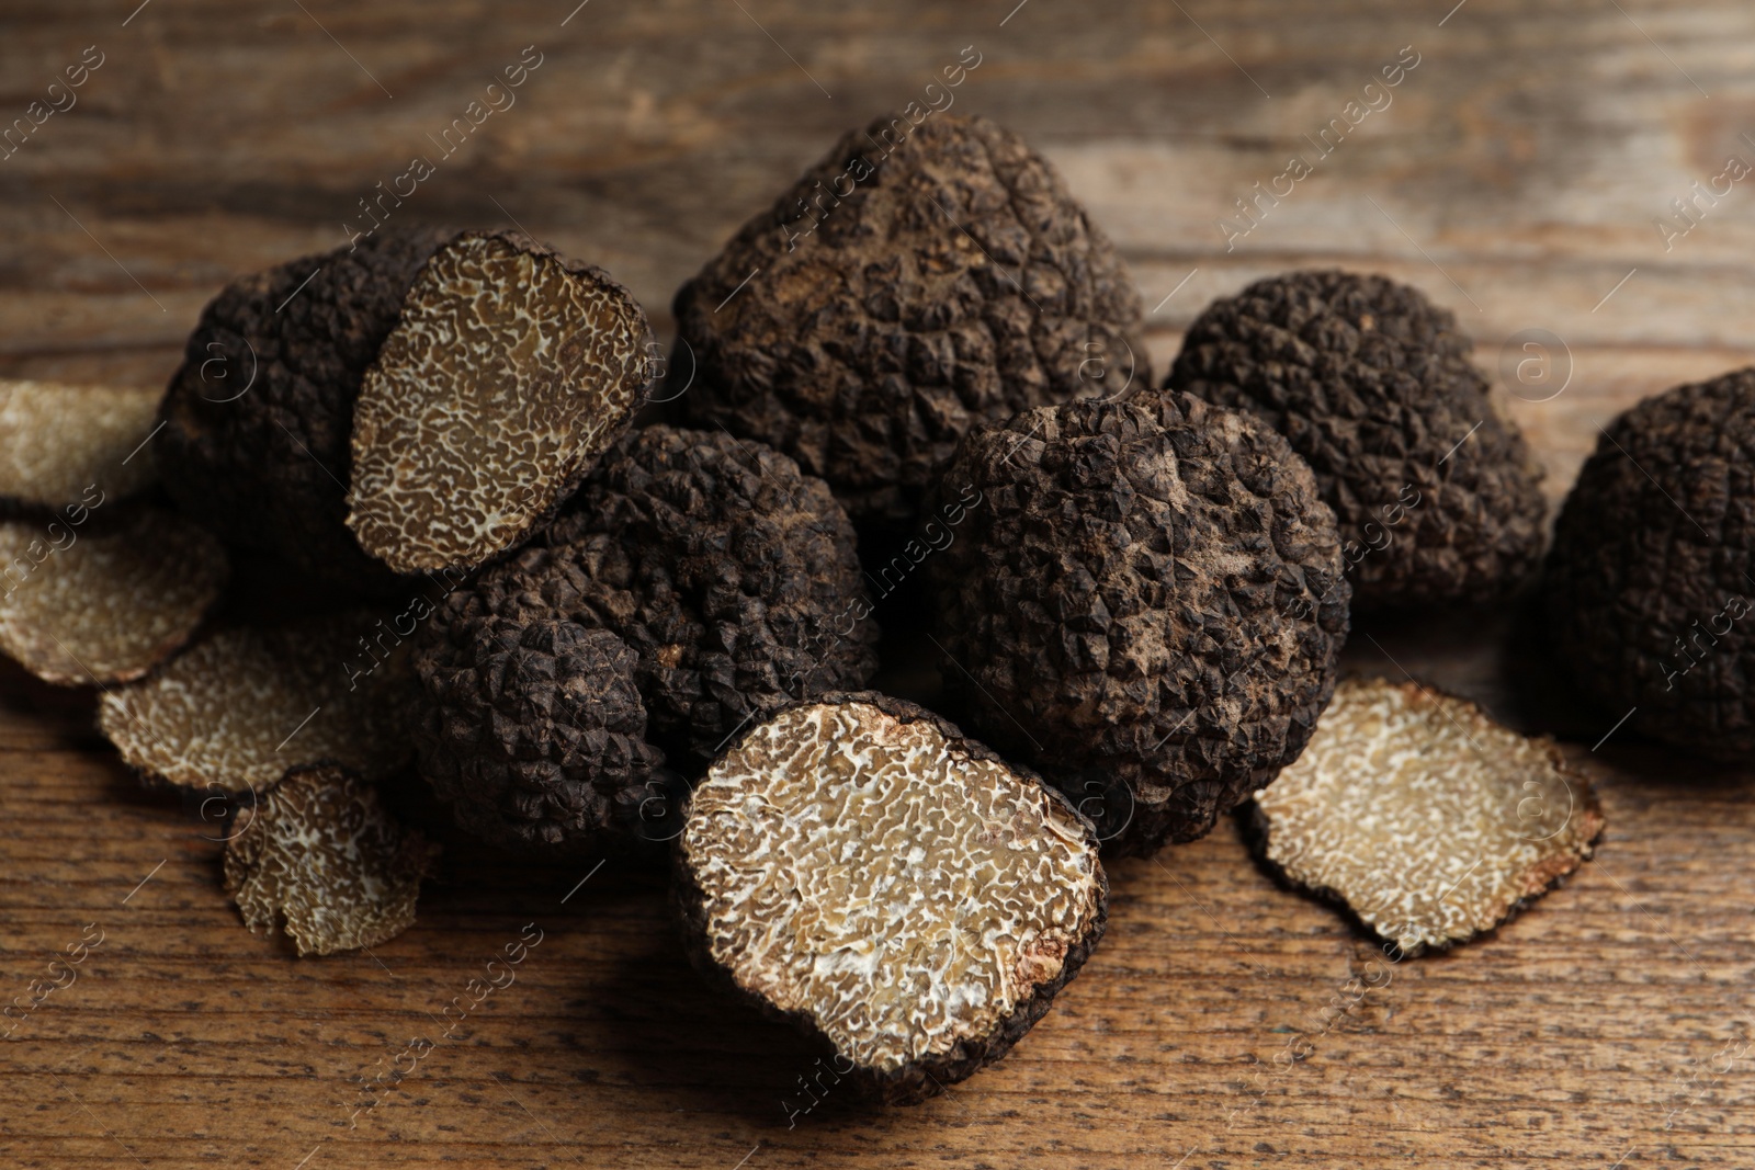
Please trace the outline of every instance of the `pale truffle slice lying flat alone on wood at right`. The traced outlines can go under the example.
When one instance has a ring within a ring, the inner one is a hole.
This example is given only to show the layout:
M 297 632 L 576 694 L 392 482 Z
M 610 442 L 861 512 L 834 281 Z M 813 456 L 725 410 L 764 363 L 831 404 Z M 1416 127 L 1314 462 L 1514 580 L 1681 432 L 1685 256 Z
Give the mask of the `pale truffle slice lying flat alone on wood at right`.
M 1408 954 L 1492 930 L 1590 858 L 1602 812 L 1548 738 L 1416 682 L 1348 679 L 1255 795 L 1265 860 Z

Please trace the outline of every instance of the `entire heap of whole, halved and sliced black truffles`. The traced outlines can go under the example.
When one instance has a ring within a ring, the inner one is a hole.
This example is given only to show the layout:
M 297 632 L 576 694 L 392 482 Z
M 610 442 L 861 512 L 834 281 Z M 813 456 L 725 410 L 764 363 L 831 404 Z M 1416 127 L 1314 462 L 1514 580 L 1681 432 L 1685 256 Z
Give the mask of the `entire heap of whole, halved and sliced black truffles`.
M 1541 468 L 1450 312 L 1283 274 L 1155 382 L 1053 167 L 899 125 L 677 291 L 686 393 L 600 268 L 425 226 L 225 288 L 163 395 L 0 384 L 0 651 L 102 688 L 147 782 L 225 798 L 253 931 L 405 930 L 418 775 L 519 860 L 667 860 L 700 972 L 888 1102 L 1041 1019 L 1102 858 L 1234 810 L 1409 954 L 1590 858 L 1571 756 L 1343 679 L 1353 614 L 1532 596 L 1606 710 L 1755 747 L 1755 370 L 1604 432 L 1536 586 Z M 909 654 L 942 686 L 885 693 Z

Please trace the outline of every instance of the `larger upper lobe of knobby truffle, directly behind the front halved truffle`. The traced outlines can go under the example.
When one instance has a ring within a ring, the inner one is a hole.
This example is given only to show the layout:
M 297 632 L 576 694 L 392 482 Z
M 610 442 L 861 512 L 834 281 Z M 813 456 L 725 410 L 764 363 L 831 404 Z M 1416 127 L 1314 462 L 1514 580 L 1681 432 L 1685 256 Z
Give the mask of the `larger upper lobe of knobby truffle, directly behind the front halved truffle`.
M 878 626 L 853 526 L 758 442 L 649 426 L 532 546 L 456 589 L 430 637 L 483 616 L 607 630 L 634 649 L 649 735 L 711 760 L 788 698 L 863 686 Z

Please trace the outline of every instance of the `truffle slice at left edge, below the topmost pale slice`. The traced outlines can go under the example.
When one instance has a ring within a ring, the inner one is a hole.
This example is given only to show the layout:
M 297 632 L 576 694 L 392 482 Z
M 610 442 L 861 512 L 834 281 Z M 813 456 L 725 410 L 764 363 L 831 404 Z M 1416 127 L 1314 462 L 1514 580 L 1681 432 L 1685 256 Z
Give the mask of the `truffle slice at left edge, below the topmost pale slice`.
M 190 640 L 226 575 L 218 537 L 160 509 L 0 521 L 0 651 L 60 686 L 128 682 Z

